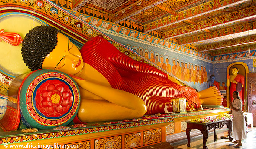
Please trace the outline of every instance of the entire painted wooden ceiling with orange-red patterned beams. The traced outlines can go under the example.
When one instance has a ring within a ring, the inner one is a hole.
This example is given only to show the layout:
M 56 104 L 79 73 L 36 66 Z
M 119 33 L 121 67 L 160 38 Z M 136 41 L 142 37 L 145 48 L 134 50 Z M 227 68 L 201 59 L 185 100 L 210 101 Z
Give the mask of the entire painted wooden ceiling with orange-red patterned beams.
M 123 26 L 138 24 L 140 32 L 198 51 L 256 44 L 256 0 L 67 0 L 64 5 Z

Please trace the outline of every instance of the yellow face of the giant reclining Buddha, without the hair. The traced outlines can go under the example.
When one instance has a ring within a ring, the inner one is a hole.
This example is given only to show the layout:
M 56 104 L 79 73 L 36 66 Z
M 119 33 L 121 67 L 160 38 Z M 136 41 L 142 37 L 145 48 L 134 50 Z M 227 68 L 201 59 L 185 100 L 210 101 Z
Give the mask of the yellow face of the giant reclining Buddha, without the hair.
M 83 69 L 83 59 L 78 48 L 61 33 L 57 34 L 57 40 L 57 46 L 45 57 L 42 68 L 72 75 L 80 72 Z

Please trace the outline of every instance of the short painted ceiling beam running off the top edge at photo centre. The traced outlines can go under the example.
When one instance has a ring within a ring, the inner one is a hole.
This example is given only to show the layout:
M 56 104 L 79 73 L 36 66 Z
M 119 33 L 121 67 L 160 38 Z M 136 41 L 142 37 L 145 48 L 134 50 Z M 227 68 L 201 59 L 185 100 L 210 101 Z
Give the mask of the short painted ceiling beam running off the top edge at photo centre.
M 132 17 L 138 13 L 141 13 L 145 10 L 148 10 L 152 7 L 155 7 L 167 0 L 140 0 L 136 2 L 135 4 L 126 7 L 125 9 L 122 9 L 114 14 L 114 23 L 119 23 L 121 21 L 124 21 L 128 19 L 129 17 Z

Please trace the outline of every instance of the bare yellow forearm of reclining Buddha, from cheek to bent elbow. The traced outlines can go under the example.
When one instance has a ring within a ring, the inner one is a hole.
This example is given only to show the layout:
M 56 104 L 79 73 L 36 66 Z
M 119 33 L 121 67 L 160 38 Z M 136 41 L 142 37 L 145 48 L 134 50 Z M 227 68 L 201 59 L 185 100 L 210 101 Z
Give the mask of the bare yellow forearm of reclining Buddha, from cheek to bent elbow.
M 79 77 L 72 77 L 75 79 L 76 83 L 78 83 L 79 87 L 107 100 L 108 102 L 128 109 L 140 110 L 144 113 L 147 111 L 147 106 L 143 100 L 132 93 L 114 89 L 112 87 L 102 86 L 97 83 L 83 80 Z M 83 91 L 81 90 L 81 92 Z

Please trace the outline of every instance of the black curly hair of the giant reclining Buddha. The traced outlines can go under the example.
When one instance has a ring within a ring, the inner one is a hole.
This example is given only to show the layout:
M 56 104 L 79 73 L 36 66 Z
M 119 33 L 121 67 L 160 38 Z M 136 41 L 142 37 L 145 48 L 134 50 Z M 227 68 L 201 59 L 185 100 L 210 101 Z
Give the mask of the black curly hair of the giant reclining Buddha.
M 57 46 L 59 29 L 37 26 L 26 34 L 22 43 L 22 57 L 29 69 L 42 69 L 43 60 Z

